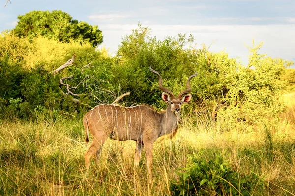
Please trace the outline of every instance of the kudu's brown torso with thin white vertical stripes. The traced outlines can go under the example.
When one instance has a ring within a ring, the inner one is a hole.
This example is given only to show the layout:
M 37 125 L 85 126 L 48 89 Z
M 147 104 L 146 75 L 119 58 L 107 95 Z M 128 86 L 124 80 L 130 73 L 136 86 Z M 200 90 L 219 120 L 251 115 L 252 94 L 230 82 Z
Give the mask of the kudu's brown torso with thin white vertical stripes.
M 114 140 L 141 141 L 144 134 L 159 133 L 159 115 L 150 107 L 139 105 L 125 108 L 115 105 L 98 105 L 87 112 L 83 124 L 95 138 L 110 137 Z M 153 137 L 153 136 L 150 137 Z

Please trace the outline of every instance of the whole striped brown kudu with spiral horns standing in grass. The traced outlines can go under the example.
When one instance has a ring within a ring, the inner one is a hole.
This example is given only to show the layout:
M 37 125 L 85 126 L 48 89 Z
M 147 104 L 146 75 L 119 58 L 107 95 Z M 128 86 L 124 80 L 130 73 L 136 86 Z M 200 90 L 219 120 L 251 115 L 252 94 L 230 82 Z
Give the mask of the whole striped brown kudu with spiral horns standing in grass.
M 190 80 L 197 75 L 191 75 L 187 79 L 186 90 L 177 97 L 168 89 L 163 87 L 163 80 L 160 74 L 151 69 L 159 79 L 159 88 L 163 92 L 162 99 L 168 103 L 165 112 L 158 113 L 146 105 L 134 107 L 122 107 L 116 105 L 102 104 L 95 106 L 84 115 L 83 125 L 86 132 L 86 142 L 89 141 L 89 132 L 93 137 L 89 149 L 85 153 L 85 166 L 89 169 L 91 157 L 94 155 L 95 162 L 98 158 L 104 142 L 111 138 L 113 140 L 136 141 L 134 166 L 138 167 L 143 148 L 146 150 L 148 167 L 148 182 L 152 183 L 152 148 L 157 138 L 177 132 L 181 105 L 188 103 L 192 95 Z

